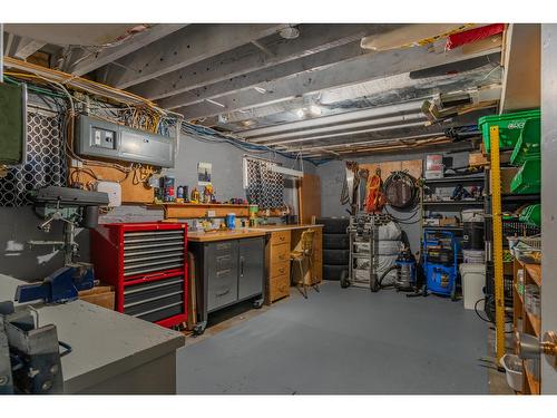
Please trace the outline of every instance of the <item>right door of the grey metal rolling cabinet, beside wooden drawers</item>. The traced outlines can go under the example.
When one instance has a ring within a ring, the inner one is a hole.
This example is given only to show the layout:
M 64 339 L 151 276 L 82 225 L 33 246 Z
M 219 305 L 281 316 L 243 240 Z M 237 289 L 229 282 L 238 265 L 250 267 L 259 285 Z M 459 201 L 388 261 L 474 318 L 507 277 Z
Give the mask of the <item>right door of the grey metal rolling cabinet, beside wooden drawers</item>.
M 240 240 L 238 299 L 263 293 L 264 239 Z

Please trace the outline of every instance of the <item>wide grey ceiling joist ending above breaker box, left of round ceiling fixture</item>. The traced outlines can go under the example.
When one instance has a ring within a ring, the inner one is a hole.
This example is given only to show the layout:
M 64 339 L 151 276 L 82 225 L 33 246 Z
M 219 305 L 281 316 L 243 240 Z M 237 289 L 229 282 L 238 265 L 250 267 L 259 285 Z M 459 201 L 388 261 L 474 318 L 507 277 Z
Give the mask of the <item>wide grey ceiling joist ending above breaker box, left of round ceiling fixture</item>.
M 128 88 L 264 38 L 284 27 L 286 25 L 189 25 L 119 59 L 119 66 L 110 68 L 106 82 Z

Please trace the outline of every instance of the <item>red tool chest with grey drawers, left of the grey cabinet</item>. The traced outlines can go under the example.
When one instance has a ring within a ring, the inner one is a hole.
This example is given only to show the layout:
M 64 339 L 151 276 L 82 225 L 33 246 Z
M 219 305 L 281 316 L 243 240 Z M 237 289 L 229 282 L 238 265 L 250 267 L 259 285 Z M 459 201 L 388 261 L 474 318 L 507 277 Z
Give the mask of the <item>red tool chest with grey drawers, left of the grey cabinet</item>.
M 163 327 L 187 319 L 187 224 L 119 223 L 91 231 L 95 275 L 116 310 Z

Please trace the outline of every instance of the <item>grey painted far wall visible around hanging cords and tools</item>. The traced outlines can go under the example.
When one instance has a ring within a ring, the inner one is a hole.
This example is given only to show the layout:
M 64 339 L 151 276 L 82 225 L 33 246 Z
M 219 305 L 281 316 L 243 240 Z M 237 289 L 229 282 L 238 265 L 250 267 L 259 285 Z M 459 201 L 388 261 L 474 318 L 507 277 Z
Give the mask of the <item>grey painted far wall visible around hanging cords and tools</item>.
M 353 161 L 360 164 L 370 164 L 379 162 L 392 162 L 392 161 L 404 161 L 404 159 L 424 159 L 427 154 L 434 154 L 434 152 L 429 153 L 405 153 L 397 155 L 377 155 L 363 158 L 353 158 Z M 468 152 L 457 152 L 457 153 L 444 153 L 444 157 L 452 157 L 453 167 L 462 167 L 468 165 Z M 346 213 L 348 206 L 343 206 L 340 203 L 340 196 L 342 192 L 342 185 L 344 183 L 344 162 L 332 161 L 322 164 L 317 167 L 317 175 L 321 177 L 321 214 L 322 216 L 349 216 Z M 411 213 L 399 212 L 390 208 L 390 212 L 400 218 L 408 218 Z M 448 213 L 449 215 L 449 213 Z M 412 217 L 411 221 L 419 221 L 419 214 Z M 410 247 L 413 253 L 416 253 L 420 247 L 420 235 L 421 229 L 420 223 L 413 224 L 401 224 L 402 231 L 408 235 L 410 242 Z

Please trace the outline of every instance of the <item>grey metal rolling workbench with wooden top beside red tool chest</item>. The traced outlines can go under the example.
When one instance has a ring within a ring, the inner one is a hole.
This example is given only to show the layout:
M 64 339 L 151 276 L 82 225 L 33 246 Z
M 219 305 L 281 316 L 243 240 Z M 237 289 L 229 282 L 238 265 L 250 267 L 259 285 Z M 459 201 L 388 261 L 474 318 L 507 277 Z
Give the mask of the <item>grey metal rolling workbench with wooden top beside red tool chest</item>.
M 233 230 L 192 232 L 188 249 L 195 259 L 197 324 L 205 331 L 208 314 L 253 300 L 263 304 L 265 232 Z

